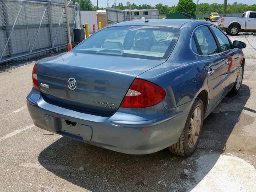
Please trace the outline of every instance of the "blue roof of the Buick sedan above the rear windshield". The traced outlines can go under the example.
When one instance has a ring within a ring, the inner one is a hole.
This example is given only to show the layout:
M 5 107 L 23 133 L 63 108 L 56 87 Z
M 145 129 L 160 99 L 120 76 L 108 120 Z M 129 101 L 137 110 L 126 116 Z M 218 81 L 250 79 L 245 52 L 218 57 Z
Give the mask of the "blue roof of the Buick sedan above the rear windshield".
M 148 21 L 148 22 L 145 22 Z M 198 24 L 209 24 L 209 22 L 202 20 L 192 20 L 192 19 L 146 19 L 146 20 L 132 20 L 126 22 L 120 22 L 107 27 L 112 26 L 162 26 L 162 27 L 173 27 L 180 28 L 186 23 L 198 23 Z

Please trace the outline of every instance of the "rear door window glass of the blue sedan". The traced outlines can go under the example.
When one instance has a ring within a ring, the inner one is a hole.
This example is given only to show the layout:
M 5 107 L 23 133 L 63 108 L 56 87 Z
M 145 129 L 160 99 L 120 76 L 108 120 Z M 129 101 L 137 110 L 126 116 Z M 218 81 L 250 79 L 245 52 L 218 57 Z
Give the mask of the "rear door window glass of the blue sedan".
M 198 27 L 195 30 L 195 36 L 202 51 L 202 55 L 218 53 L 217 44 L 207 26 Z

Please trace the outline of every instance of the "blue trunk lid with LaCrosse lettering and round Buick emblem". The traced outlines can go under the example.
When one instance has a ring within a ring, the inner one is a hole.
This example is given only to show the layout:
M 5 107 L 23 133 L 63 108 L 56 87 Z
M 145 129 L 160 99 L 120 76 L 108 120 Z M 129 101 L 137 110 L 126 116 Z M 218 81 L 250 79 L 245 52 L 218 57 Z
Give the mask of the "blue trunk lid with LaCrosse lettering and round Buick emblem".
M 38 83 L 48 102 L 113 114 L 134 78 L 163 62 L 68 52 L 37 64 Z M 70 78 L 76 80 L 74 90 L 68 88 Z

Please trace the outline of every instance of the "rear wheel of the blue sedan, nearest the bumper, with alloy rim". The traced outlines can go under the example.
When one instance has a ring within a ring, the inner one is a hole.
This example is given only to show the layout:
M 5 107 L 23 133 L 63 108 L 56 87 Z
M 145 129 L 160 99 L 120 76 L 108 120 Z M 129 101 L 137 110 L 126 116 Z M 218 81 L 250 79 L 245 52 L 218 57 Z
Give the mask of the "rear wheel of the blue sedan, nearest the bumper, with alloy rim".
M 200 98 L 196 98 L 188 114 L 185 127 L 176 144 L 168 147 L 170 152 L 189 157 L 198 145 L 204 121 L 204 104 Z

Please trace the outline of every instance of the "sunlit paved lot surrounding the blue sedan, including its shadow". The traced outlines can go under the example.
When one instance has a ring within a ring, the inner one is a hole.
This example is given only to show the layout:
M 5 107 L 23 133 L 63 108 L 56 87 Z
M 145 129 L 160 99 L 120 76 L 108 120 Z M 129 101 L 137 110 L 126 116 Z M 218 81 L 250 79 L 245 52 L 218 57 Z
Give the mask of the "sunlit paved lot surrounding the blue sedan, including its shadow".
M 37 128 L 26 108 L 34 62 L 0 68 L 0 191 L 255 192 L 256 34 L 230 39 L 247 44 L 242 88 L 206 118 L 190 158 L 121 154 Z

